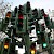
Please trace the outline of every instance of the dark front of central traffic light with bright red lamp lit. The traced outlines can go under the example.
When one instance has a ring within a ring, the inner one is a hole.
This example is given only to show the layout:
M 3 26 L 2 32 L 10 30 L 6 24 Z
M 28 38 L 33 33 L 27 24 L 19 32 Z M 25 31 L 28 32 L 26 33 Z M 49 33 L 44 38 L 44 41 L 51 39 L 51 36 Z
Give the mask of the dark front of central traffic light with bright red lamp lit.
M 23 16 L 23 13 L 22 13 L 22 5 L 19 5 L 19 10 L 18 10 L 18 30 L 22 31 L 23 30 L 23 19 L 24 19 L 24 16 Z

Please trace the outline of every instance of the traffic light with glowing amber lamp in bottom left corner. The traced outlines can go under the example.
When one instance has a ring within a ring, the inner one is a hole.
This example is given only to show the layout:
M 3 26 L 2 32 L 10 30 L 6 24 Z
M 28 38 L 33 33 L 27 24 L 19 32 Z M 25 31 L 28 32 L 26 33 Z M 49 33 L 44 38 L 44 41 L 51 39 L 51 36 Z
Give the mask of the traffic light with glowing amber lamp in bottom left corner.
M 11 39 L 5 38 L 3 41 L 3 48 L 2 48 L 1 54 L 9 54 L 10 53 L 10 43 L 11 43 Z

